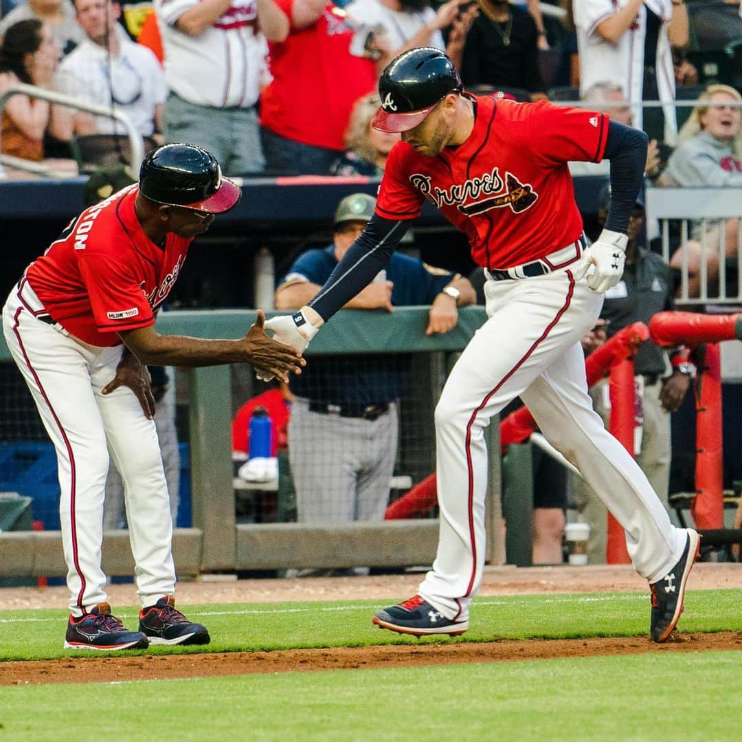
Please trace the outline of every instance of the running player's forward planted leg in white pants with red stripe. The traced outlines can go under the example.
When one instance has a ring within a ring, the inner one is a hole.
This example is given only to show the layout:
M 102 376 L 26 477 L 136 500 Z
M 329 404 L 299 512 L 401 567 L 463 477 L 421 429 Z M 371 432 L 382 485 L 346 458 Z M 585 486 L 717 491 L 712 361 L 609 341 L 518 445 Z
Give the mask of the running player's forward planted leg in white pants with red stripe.
M 585 292 L 578 296 L 574 288 L 568 271 L 525 281 L 487 281 L 490 319 L 464 349 L 436 406 L 439 545 L 418 593 L 428 608 L 461 631 L 468 625 L 485 562 L 484 430 L 493 414 L 594 323 L 601 300 Z M 410 613 L 420 612 L 410 608 Z M 439 616 L 435 622 L 440 626 Z M 380 620 L 385 628 L 399 630 Z M 430 628 L 427 633 L 453 633 Z

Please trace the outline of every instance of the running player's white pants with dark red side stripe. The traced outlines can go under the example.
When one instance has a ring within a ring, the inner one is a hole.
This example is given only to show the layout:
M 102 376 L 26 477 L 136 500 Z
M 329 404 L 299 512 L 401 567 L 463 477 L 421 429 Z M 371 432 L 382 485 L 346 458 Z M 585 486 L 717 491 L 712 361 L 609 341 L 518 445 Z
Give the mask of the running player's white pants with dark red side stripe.
M 485 563 L 490 418 L 520 396 L 542 433 L 574 463 L 626 529 L 634 568 L 649 582 L 680 559 L 684 532 L 670 523 L 646 476 L 593 411 L 580 338 L 603 296 L 569 270 L 487 281 L 489 319 L 462 353 L 436 407 L 441 526 L 433 570 L 418 592 L 448 618 L 466 619 Z

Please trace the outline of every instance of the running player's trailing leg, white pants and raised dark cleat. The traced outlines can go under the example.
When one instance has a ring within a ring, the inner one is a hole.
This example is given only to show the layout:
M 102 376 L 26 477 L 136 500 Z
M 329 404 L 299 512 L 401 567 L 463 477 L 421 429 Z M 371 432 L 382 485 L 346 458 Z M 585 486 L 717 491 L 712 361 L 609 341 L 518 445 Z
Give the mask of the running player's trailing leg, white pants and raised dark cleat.
M 626 531 L 634 568 L 652 591 L 651 637 L 663 642 L 683 610 L 697 533 L 670 523 L 639 465 L 593 411 L 580 345 L 556 359 L 521 397 L 543 434 L 580 469 Z

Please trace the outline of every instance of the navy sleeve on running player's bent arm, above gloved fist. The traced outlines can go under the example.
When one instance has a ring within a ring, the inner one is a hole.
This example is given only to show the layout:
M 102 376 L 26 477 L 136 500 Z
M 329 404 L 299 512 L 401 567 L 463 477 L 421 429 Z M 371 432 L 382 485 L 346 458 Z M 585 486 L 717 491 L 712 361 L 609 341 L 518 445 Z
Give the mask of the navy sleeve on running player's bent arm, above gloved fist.
M 628 219 L 644 180 L 649 137 L 638 129 L 617 121 L 608 125 L 603 157 L 611 160 L 611 206 L 605 229 L 628 231 Z

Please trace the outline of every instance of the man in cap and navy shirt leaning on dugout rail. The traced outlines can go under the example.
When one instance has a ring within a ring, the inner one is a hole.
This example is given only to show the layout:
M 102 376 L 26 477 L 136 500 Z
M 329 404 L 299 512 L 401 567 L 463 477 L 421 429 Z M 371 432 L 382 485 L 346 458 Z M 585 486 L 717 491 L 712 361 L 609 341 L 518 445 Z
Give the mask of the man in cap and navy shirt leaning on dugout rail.
M 375 200 L 356 193 L 335 212 L 332 244 L 299 256 L 275 295 L 279 309 L 301 307 L 364 230 Z M 348 308 L 393 311 L 395 305 L 430 305 L 426 334 L 456 327 L 458 307 L 473 304 L 474 291 L 461 276 L 394 253 L 385 275 L 367 286 Z M 310 367 L 311 366 L 311 367 Z M 389 499 L 397 449 L 397 406 L 409 372 L 401 357 L 312 357 L 289 420 L 289 461 L 298 521 L 380 521 Z

